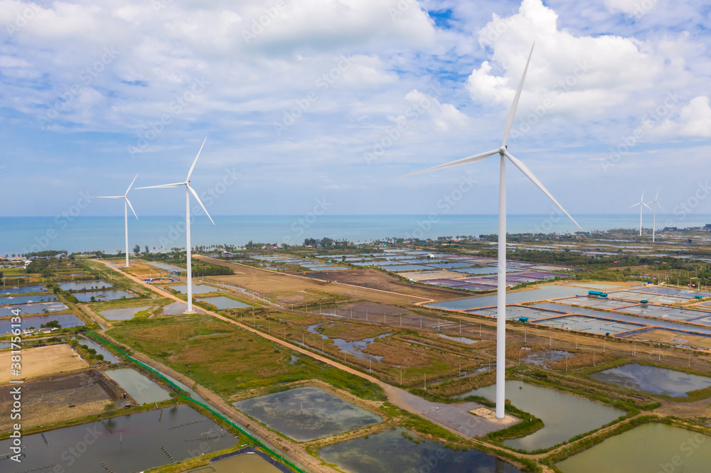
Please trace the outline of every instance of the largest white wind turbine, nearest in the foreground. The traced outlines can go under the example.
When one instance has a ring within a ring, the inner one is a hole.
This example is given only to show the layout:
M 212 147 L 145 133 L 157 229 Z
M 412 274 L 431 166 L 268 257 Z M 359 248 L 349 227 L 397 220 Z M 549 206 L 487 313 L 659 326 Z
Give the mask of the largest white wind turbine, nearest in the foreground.
M 498 154 L 500 156 L 498 187 L 498 288 L 496 291 L 496 417 L 499 419 L 503 419 L 505 417 L 504 405 L 506 402 L 506 395 L 504 393 L 504 382 L 506 381 L 506 158 L 508 158 L 513 165 L 515 165 L 527 178 L 529 178 L 540 190 L 542 190 L 542 192 L 547 195 L 550 200 L 552 200 L 555 205 L 557 205 L 560 210 L 562 210 L 574 222 L 574 224 L 577 225 L 578 228 L 580 228 L 580 225 L 575 222 L 573 217 L 570 217 L 570 214 L 566 212 L 562 205 L 555 200 L 555 197 L 547 191 L 540 180 L 533 175 L 528 166 L 519 161 L 517 158 L 514 158 L 508 152 L 508 148 L 506 146 L 511 126 L 513 126 L 513 118 L 516 114 L 518 99 L 521 95 L 521 89 L 523 89 L 523 81 L 525 80 L 526 72 L 528 71 L 528 64 L 531 60 L 531 55 L 533 55 L 533 46 L 531 46 L 528 61 L 526 62 L 526 67 L 523 70 L 523 76 L 521 77 L 521 82 L 519 83 L 518 90 L 516 90 L 515 97 L 513 98 L 513 104 L 511 104 L 508 116 L 506 116 L 506 123 L 503 126 L 503 142 L 501 143 L 501 146 L 491 151 L 469 156 L 468 158 L 462 158 L 457 161 L 452 161 L 451 163 L 434 166 L 434 168 L 421 170 L 417 173 L 407 174 L 413 175 L 427 173 L 432 170 L 451 168 L 461 164 L 476 163 L 477 161 L 482 161 L 483 159 L 493 156 L 494 154 Z

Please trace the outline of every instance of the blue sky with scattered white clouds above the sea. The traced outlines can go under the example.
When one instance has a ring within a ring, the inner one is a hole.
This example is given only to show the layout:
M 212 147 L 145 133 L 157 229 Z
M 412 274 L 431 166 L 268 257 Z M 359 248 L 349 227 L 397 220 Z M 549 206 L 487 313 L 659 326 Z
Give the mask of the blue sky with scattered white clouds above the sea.
M 493 214 L 498 156 L 398 177 L 497 148 L 534 43 L 508 151 L 566 210 L 711 213 L 702 1 L 0 0 L 0 26 L 0 216 L 122 214 L 95 197 L 182 182 L 205 137 L 210 214 Z

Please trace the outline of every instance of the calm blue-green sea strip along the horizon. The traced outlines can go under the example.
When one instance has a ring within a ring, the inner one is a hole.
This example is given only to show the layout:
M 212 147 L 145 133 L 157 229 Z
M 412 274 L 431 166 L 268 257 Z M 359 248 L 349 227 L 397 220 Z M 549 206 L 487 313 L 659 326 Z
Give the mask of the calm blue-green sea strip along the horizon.
M 583 214 L 574 216 L 587 232 L 638 229 L 639 214 Z M 302 244 L 306 238 L 347 239 L 363 243 L 376 239 L 427 239 L 479 237 L 498 232 L 498 216 L 483 215 L 216 215 L 215 224 L 205 216 L 191 219 L 191 244 L 243 246 L 248 241 Z M 702 227 L 711 214 L 658 214 L 657 228 Z M 651 233 L 651 217 L 644 227 Z M 563 214 L 508 215 L 508 233 L 567 233 L 578 228 Z M 186 246 L 185 216 L 141 216 L 129 219 L 129 246 L 168 251 Z M 123 251 L 124 217 L 0 217 L 0 254 L 66 250 L 70 253 L 101 250 Z

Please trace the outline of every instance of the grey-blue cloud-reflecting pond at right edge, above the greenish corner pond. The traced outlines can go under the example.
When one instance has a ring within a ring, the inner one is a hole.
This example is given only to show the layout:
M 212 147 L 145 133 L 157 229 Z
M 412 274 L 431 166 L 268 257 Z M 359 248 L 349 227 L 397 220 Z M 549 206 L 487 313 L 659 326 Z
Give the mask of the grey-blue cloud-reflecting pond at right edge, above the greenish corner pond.
M 590 377 L 623 388 L 678 398 L 688 397 L 689 391 L 711 386 L 711 378 L 705 376 L 637 363 L 597 371 Z

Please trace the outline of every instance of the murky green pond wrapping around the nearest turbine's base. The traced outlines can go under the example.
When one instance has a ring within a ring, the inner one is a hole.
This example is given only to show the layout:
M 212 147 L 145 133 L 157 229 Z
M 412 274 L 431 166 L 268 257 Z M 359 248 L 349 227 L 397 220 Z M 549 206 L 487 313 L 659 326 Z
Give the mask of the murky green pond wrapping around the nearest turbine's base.
M 474 389 L 457 397 L 466 396 L 483 396 L 493 401 L 496 399 L 496 386 Z M 503 442 L 508 447 L 529 452 L 565 442 L 625 414 L 625 411 L 603 403 L 514 380 L 506 381 L 506 398 L 511 400 L 513 406 L 532 413 L 545 424 L 530 435 Z

